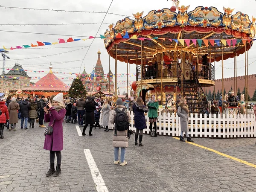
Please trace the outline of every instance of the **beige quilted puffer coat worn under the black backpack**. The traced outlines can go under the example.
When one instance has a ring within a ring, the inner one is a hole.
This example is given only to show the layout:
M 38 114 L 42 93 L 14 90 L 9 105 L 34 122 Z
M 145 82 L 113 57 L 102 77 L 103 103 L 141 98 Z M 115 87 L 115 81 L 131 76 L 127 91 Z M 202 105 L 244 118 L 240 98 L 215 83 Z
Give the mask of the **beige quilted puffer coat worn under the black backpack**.
M 122 110 L 125 108 L 123 105 L 117 105 L 116 108 L 119 108 Z M 128 119 L 130 119 L 130 112 L 126 110 L 126 114 L 128 116 Z M 116 111 L 112 110 L 111 111 L 111 118 L 110 122 L 113 124 L 115 122 L 115 116 L 116 116 Z M 115 134 L 115 130 L 113 131 L 113 134 Z M 116 131 L 116 136 L 113 135 L 113 147 L 128 147 L 128 138 L 127 138 L 127 130 L 125 131 Z

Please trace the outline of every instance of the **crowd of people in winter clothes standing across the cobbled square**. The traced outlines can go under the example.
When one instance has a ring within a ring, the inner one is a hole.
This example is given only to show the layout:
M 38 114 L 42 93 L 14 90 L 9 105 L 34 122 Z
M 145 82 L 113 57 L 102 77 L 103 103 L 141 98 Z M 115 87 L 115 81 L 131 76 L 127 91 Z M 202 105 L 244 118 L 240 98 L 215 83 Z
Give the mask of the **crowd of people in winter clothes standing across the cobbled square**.
M 89 136 L 93 136 L 93 127 L 105 127 L 105 132 L 109 131 L 109 125 L 114 124 L 113 129 L 113 147 L 114 147 L 114 164 L 125 166 L 125 149 L 128 147 L 128 139 L 133 131 L 130 130 L 130 111 L 125 107 L 121 98 L 116 100 L 115 108 L 111 107 L 111 102 L 107 98 L 98 98 L 87 96 L 81 98 L 65 98 L 63 93 L 58 93 L 49 98 L 38 96 L 27 99 L 15 97 L 0 98 L 0 138 L 3 139 L 3 128 L 9 131 L 16 130 L 20 113 L 20 128 L 34 128 L 35 119 L 38 119 L 39 127 L 45 128 L 44 149 L 49 151 L 49 171 L 46 176 L 57 177 L 61 174 L 61 151 L 63 150 L 63 122 L 78 123 L 83 125 L 82 135 L 90 125 Z M 136 128 L 134 145 L 143 146 L 143 129 L 147 127 L 145 113 L 148 113 L 150 119 L 150 136 L 157 137 L 157 116 L 158 102 L 154 96 L 151 96 L 145 104 L 141 97 L 134 101 L 132 110 L 134 112 L 134 125 Z M 256 108 L 254 109 L 256 113 Z M 99 124 L 99 117 L 102 113 L 102 125 Z M 183 134 L 185 132 L 187 142 L 193 142 L 188 134 L 189 131 L 189 108 L 186 99 L 180 99 L 177 108 L 177 115 L 180 117 L 181 131 L 180 141 L 185 142 Z M 44 126 L 44 122 L 49 123 Z M 8 125 L 9 127 L 8 127 Z M 154 127 L 153 127 L 154 124 Z M 52 132 L 49 129 L 52 128 Z M 139 139 L 139 142 L 138 142 Z M 121 148 L 119 160 L 119 148 Z M 55 168 L 55 154 L 57 165 Z

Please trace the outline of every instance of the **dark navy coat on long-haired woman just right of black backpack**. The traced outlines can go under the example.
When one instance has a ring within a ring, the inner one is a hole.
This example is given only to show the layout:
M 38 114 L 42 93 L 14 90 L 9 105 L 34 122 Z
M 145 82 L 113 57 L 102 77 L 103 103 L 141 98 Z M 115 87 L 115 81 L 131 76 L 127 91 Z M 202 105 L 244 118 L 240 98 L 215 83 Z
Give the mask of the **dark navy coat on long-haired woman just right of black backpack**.
M 144 113 L 148 112 L 148 108 L 145 105 L 139 106 L 136 102 L 134 102 L 134 105 L 132 106 L 132 111 L 134 112 L 135 128 L 139 130 L 147 128 Z

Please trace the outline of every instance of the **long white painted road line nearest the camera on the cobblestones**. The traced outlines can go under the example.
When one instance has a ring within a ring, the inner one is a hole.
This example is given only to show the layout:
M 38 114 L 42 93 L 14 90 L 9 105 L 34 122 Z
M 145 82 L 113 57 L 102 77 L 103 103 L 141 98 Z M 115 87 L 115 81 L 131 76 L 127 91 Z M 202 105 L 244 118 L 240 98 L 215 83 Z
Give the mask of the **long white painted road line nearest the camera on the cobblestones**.
M 84 149 L 84 154 L 85 154 L 88 166 L 90 168 L 91 174 L 93 176 L 93 181 L 95 183 L 96 190 L 98 192 L 108 192 L 108 188 L 105 185 L 105 182 L 102 176 L 100 175 L 99 169 L 93 159 L 90 149 Z

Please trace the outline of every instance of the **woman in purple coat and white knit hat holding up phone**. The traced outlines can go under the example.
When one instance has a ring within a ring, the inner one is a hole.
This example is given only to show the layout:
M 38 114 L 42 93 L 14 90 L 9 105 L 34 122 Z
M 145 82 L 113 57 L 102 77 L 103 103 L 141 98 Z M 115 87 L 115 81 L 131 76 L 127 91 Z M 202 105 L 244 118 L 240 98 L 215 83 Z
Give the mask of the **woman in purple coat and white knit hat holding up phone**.
M 44 149 L 50 151 L 50 169 L 46 176 L 57 177 L 61 174 L 61 150 L 63 150 L 63 127 L 62 122 L 66 114 L 65 105 L 63 103 L 63 93 L 58 93 L 52 103 L 47 104 L 49 109 L 44 107 L 44 120 L 52 126 L 51 135 L 46 135 L 44 140 Z M 54 169 L 54 158 L 57 156 L 57 166 Z

